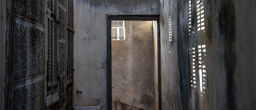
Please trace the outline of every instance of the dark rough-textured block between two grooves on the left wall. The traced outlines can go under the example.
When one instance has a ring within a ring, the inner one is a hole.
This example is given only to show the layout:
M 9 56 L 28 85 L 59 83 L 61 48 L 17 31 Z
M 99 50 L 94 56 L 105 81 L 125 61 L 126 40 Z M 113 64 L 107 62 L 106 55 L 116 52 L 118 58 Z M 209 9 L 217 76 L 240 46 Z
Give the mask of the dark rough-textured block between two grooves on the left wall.
M 17 21 L 14 35 L 14 79 L 43 73 L 45 33 Z

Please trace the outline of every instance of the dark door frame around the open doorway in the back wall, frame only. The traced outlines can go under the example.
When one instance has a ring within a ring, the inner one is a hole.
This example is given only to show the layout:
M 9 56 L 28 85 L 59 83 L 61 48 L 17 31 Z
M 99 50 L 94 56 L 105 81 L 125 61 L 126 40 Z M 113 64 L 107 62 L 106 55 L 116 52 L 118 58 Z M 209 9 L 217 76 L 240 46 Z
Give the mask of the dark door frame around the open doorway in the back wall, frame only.
M 161 110 L 161 44 L 159 15 L 107 15 L 107 110 L 112 110 L 111 20 L 157 21 L 158 103 Z

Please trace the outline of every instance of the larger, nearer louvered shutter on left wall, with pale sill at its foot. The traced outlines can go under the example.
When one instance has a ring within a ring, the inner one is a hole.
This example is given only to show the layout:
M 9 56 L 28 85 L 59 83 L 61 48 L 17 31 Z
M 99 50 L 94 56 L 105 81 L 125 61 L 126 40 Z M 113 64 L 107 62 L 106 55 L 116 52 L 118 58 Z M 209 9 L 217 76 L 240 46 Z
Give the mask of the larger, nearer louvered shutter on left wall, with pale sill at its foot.
M 59 0 L 47 0 L 46 107 L 59 100 Z

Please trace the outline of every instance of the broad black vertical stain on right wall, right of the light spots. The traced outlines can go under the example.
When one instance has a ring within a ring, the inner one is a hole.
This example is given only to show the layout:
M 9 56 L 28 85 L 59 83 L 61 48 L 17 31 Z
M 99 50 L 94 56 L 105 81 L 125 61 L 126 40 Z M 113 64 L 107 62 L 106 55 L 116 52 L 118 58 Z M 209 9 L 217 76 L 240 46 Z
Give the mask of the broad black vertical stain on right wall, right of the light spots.
M 220 37 L 224 43 L 224 59 L 226 68 L 226 103 L 227 108 L 236 110 L 236 85 L 234 82 L 234 72 L 236 67 L 236 19 L 235 6 L 231 0 L 222 2 L 219 11 Z

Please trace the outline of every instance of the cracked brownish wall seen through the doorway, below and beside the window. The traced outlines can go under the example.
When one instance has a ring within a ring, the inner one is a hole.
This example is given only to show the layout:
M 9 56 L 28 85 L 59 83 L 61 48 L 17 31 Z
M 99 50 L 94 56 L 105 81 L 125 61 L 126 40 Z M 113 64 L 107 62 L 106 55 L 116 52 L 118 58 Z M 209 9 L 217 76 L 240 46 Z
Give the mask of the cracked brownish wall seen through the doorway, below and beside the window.
M 125 21 L 125 40 L 112 40 L 113 110 L 154 110 L 153 73 L 152 21 Z

